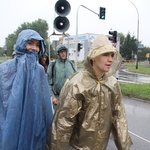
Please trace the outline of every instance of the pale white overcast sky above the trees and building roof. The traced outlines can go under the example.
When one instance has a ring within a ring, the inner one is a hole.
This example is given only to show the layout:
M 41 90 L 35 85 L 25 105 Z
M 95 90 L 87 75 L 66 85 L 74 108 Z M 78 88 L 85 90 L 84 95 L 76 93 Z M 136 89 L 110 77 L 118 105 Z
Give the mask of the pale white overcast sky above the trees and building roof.
M 131 1 L 139 12 L 139 41 L 150 47 L 150 0 Z M 0 0 L 0 47 L 4 46 L 8 34 L 12 34 L 24 22 L 46 20 L 49 25 L 49 35 L 52 34 L 56 2 L 57 0 Z M 78 12 L 78 34 L 108 35 L 108 31 L 112 29 L 124 35 L 130 32 L 137 37 L 138 15 L 136 8 L 129 0 L 68 0 L 68 2 L 71 5 L 71 12 L 67 16 L 70 28 L 66 33 L 76 34 Z M 96 14 L 80 5 L 96 13 L 99 13 L 99 7 L 105 7 L 106 19 L 100 20 Z M 56 30 L 55 32 L 58 33 Z

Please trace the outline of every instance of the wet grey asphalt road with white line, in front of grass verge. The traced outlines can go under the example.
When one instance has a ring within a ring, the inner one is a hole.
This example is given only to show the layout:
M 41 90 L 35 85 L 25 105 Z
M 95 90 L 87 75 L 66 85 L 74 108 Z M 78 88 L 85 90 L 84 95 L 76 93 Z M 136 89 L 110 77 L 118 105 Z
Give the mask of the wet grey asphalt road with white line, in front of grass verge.
M 150 103 L 129 97 L 123 102 L 133 142 L 130 150 L 150 150 Z M 112 137 L 107 150 L 117 150 Z

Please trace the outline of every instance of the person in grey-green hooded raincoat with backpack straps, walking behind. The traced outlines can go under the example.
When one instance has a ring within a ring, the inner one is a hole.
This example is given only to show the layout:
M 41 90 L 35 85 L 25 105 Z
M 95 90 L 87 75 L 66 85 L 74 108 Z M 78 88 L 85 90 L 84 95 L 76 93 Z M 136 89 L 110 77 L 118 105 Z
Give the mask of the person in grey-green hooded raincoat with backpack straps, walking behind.
M 57 109 L 59 94 L 66 79 L 76 72 L 73 63 L 67 58 L 68 48 L 59 44 L 56 51 L 58 59 L 49 64 L 47 71 L 54 111 Z

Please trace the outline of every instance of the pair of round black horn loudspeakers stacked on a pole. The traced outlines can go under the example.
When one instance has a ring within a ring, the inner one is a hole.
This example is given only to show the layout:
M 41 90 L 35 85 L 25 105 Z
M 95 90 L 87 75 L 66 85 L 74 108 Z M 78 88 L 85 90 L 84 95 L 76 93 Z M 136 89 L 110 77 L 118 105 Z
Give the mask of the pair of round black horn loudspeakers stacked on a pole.
M 58 32 L 66 32 L 69 29 L 70 23 L 66 17 L 71 10 L 71 6 L 66 0 L 58 0 L 55 4 L 55 12 L 58 16 L 54 20 L 54 28 Z

